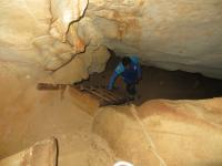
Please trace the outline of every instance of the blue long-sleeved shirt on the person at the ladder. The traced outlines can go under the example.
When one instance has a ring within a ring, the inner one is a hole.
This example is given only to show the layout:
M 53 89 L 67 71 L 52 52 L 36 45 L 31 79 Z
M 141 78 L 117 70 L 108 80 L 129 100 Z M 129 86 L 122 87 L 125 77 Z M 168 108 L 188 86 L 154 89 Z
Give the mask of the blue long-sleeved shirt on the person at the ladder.
M 112 90 L 113 84 L 119 75 L 123 77 L 123 81 L 127 84 L 133 84 L 137 82 L 139 77 L 141 77 L 141 68 L 139 63 L 139 58 L 131 56 L 130 60 L 131 60 L 130 69 L 125 69 L 122 62 L 118 64 L 110 79 L 108 90 Z

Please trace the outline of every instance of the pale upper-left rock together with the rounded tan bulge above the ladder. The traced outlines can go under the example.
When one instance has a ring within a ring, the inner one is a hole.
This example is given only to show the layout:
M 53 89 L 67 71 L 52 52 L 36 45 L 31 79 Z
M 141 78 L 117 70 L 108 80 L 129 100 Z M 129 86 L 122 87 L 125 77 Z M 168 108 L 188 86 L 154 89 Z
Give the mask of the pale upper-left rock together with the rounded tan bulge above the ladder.
M 38 66 L 53 72 L 54 82 L 63 83 L 87 79 L 89 73 L 104 69 L 109 59 L 105 46 L 84 43 L 77 31 L 88 0 L 16 0 L 2 1 L 0 6 L 0 14 L 4 15 L 0 18 L 0 61 Z M 92 56 L 99 61 L 92 61 Z M 78 66 L 79 61 L 84 63 Z M 69 62 L 72 63 L 60 70 Z M 58 73 L 62 73 L 61 77 Z

